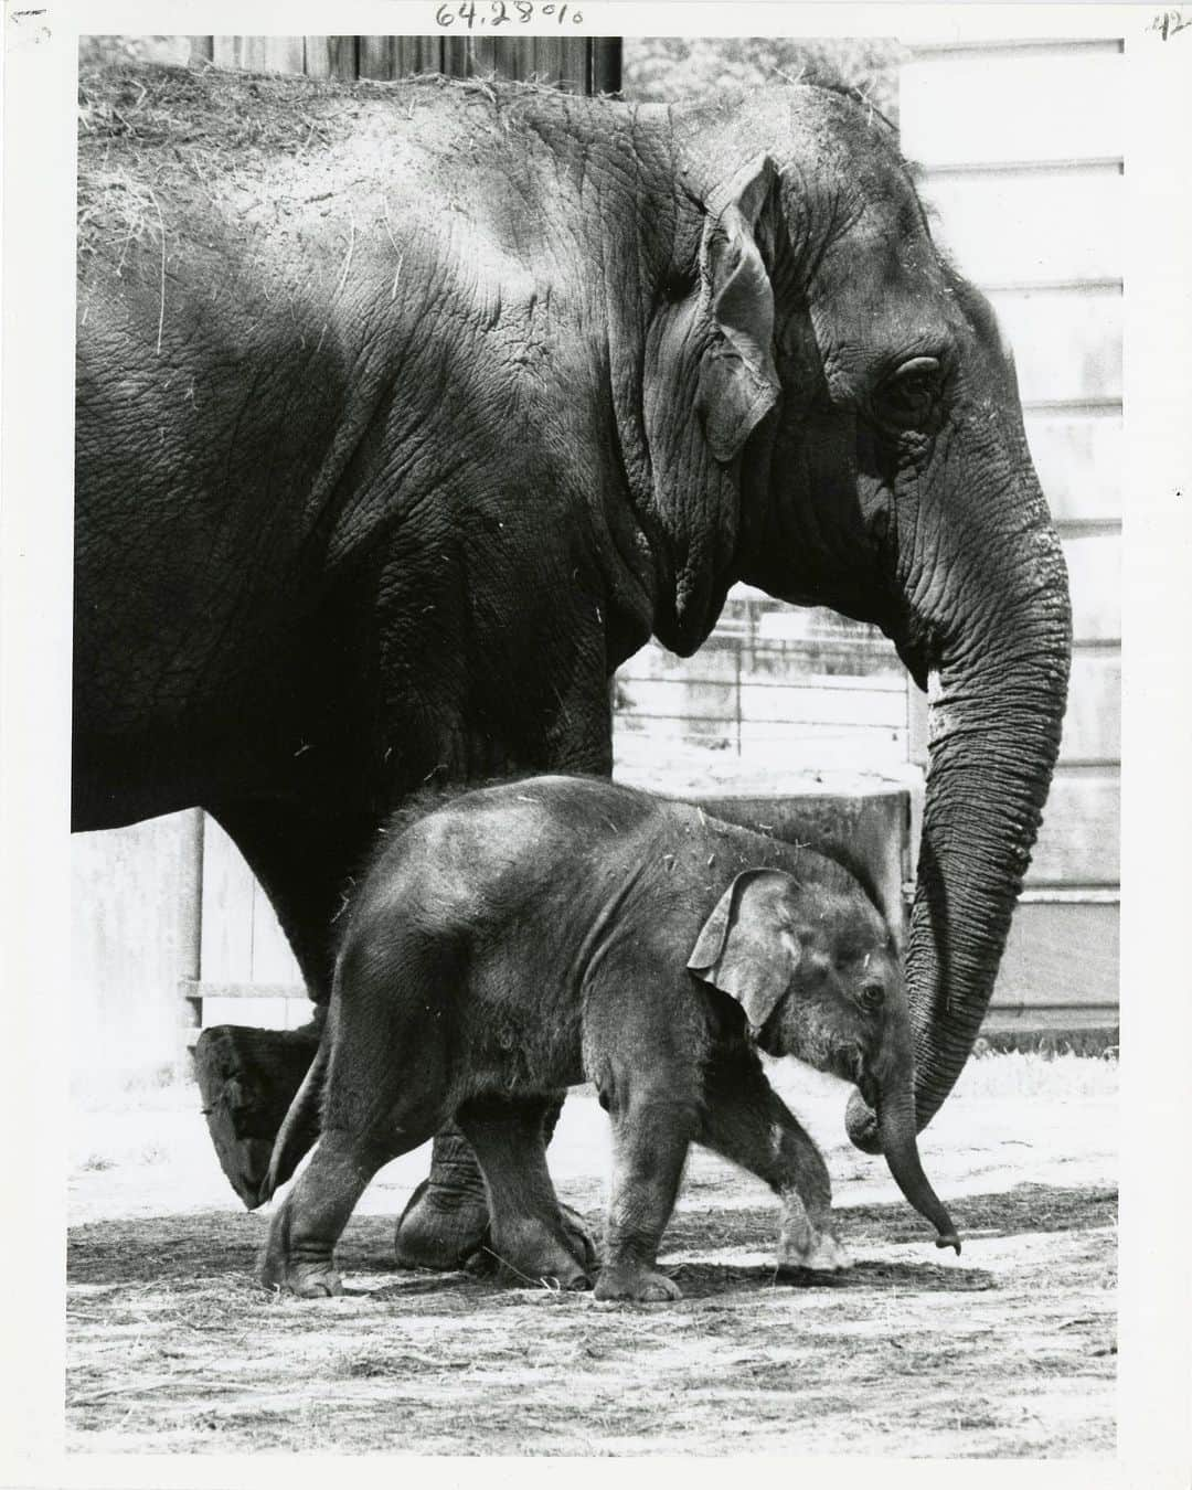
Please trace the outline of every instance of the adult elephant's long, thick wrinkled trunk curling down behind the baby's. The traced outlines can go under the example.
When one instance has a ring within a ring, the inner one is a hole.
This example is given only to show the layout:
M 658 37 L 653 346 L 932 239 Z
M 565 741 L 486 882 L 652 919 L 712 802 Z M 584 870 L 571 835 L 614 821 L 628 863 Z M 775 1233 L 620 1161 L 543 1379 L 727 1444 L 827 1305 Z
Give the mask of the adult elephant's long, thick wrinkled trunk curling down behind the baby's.
M 985 1018 L 1067 703 L 1067 572 L 1044 514 L 968 581 L 980 624 L 943 635 L 928 687 L 930 761 L 906 957 L 919 1129 L 955 1085 Z M 860 1094 L 848 1131 L 857 1147 L 878 1152 L 878 1123 Z

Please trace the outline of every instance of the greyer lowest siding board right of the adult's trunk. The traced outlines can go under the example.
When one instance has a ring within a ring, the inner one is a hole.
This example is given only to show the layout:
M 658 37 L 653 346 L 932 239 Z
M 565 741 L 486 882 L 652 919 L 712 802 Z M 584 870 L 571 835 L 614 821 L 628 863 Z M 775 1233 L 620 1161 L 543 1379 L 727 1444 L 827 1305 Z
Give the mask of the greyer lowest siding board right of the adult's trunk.
M 1021 904 L 997 974 L 994 1007 L 1116 1009 L 1118 933 L 1118 906 Z

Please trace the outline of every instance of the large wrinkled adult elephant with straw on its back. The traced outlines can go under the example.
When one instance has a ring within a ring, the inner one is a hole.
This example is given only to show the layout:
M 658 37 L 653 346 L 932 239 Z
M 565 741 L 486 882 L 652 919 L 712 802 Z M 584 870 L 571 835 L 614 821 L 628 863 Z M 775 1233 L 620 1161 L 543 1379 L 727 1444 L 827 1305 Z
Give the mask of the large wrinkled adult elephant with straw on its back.
M 200 805 L 316 1004 L 428 779 L 606 773 L 608 684 L 746 580 L 876 623 L 931 697 L 916 1119 L 976 1036 L 1064 712 L 1059 544 L 982 297 L 894 134 L 815 86 L 86 79 L 74 824 Z M 317 1028 L 198 1061 L 253 1204 Z M 876 1147 L 854 1098 L 854 1140 Z M 399 1256 L 484 1225 L 441 1138 Z

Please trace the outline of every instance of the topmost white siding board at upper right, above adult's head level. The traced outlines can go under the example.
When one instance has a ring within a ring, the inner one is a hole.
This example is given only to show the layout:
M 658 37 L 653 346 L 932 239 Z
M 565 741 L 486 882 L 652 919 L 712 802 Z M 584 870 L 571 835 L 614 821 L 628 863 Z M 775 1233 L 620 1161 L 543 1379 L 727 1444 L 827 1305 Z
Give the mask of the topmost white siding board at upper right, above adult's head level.
M 1116 54 L 922 58 L 901 74 L 901 146 L 924 165 L 1118 156 L 1122 80 Z

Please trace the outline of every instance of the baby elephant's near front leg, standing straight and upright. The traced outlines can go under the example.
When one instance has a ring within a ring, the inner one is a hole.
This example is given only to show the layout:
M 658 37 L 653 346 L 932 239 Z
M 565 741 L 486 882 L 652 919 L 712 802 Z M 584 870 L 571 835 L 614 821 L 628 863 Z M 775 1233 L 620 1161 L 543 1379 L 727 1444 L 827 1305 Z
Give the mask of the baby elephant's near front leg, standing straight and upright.
M 656 1259 L 687 1149 L 699 1126 L 694 1094 L 659 1076 L 618 1095 L 612 1118 L 612 1195 L 597 1299 L 657 1304 L 682 1298 Z

